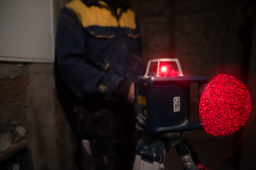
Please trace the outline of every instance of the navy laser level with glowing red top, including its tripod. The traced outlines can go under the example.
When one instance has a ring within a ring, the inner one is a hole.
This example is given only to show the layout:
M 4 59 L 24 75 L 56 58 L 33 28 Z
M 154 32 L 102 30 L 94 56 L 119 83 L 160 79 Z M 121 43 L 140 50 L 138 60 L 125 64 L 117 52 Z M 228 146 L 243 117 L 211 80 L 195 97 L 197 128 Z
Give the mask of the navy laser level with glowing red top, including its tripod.
M 178 59 L 150 60 L 135 86 L 137 130 L 142 137 L 137 145 L 134 170 L 164 169 L 165 146 L 176 146 L 185 169 L 198 169 L 181 139 L 185 130 L 202 129 L 189 120 L 190 84 L 207 83 L 203 76 L 184 76 Z

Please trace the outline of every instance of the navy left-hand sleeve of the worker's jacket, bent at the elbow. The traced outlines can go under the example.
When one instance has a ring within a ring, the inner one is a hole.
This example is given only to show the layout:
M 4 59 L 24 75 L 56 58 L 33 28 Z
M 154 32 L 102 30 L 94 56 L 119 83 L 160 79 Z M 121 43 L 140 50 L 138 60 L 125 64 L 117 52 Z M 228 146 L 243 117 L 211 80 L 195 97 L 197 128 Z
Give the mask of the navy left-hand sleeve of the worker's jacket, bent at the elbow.
M 78 17 L 69 8 L 63 8 L 56 31 L 55 62 L 58 71 L 78 98 L 84 99 L 91 94 L 111 98 L 123 78 L 90 64 L 85 54 L 86 43 Z

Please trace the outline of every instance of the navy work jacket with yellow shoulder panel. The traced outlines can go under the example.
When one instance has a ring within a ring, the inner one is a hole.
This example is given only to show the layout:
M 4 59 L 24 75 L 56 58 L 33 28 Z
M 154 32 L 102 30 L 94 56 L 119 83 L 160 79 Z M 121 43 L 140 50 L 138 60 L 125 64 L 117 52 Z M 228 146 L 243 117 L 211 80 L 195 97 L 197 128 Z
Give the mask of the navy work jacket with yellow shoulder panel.
M 60 12 L 55 62 L 78 98 L 110 100 L 122 80 L 144 74 L 141 50 L 139 27 L 129 8 L 75 0 Z

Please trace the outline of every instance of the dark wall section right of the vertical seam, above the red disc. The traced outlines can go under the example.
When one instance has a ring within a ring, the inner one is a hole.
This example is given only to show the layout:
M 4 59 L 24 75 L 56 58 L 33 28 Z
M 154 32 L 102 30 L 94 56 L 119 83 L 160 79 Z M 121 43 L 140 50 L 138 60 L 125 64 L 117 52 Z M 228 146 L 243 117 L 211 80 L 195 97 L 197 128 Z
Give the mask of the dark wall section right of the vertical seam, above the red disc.
M 220 72 L 240 76 L 242 47 L 238 30 L 243 25 L 239 1 L 177 1 L 176 57 L 185 74 L 208 78 Z

